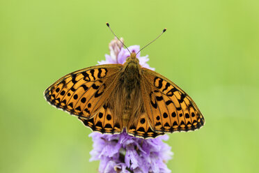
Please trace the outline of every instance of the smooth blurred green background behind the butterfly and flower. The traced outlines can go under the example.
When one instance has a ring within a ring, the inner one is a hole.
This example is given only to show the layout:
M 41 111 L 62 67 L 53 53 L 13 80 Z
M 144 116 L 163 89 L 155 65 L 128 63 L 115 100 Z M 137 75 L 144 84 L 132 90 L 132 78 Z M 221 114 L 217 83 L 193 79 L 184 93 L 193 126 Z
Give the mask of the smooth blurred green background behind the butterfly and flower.
M 258 172 L 259 1 L 9 0 L 0 6 L 0 172 L 97 172 L 91 130 L 43 91 L 109 54 L 111 28 L 196 101 L 206 124 L 170 134 L 172 172 Z

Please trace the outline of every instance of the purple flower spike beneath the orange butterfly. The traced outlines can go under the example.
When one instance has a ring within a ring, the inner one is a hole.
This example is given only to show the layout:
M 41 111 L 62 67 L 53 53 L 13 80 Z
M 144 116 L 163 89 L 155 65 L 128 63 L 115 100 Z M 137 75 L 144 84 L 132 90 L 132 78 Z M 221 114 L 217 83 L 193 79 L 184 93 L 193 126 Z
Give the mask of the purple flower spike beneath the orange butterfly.
M 123 41 L 123 38 L 120 38 Z M 139 45 L 128 47 L 130 52 L 139 52 Z M 109 44 L 110 55 L 106 54 L 106 60 L 98 62 L 99 64 L 107 63 L 125 63 L 128 52 L 119 40 L 116 38 Z M 142 67 L 150 68 L 148 56 L 140 57 L 136 55 Z M 139 137 L 123 133 L 116 135 L 100 134 L 93 132 L 89 135 L 93 138 L 93 150 L 91 159 L 100 160 L 100 173 L 141 173 L 141 172 L 171 172 L 166 166 L 166 162 L 171 159 L 173 153 L 168 144 L 162 140 L 168 140 L 168 135 L 159 136 L 155 139 L 144 140 Z

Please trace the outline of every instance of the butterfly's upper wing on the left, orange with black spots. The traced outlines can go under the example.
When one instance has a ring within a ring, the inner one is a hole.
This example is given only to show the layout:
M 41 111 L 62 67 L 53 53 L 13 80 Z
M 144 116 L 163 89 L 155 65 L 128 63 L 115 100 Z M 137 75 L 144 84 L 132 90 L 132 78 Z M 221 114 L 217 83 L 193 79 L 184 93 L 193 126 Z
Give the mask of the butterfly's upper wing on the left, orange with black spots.
M 109 98 L 121 68 L 120 64 L 106 64 L 77 70 L 48 87 L 45 98 L 70 114 L 91 119 Z

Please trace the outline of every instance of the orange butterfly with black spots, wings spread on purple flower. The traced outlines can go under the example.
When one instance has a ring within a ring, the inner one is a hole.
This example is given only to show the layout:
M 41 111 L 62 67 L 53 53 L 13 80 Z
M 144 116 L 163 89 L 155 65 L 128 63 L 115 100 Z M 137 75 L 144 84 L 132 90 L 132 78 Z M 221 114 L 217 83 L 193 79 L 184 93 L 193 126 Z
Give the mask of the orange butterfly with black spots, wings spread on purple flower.
M 205 123 L 185 91 L 143 68 L 132 52 L 124 64 L 91 66 L 61 77 L 45 90 L 46 100 L 100 133 L 154 138 L 196 130 Z

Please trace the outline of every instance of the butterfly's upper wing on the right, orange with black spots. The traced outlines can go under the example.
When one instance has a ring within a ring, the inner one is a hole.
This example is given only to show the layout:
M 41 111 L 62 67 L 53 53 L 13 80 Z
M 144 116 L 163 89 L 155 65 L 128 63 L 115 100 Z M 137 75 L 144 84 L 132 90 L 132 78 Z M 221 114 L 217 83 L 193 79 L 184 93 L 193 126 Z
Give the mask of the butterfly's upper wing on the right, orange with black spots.
M 176 84 L 155 71 L 142 68 L 141 94 L 152 130 L 159 133 L 201 128 L 203 115 Z

